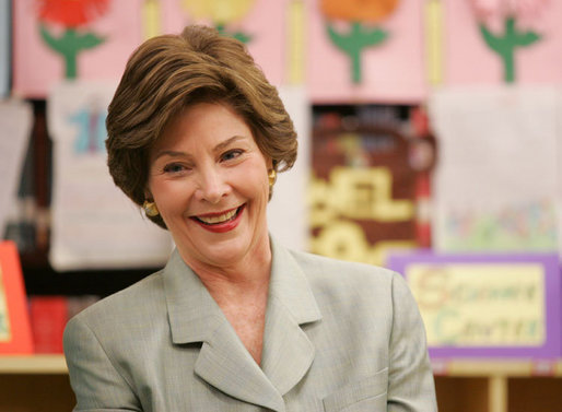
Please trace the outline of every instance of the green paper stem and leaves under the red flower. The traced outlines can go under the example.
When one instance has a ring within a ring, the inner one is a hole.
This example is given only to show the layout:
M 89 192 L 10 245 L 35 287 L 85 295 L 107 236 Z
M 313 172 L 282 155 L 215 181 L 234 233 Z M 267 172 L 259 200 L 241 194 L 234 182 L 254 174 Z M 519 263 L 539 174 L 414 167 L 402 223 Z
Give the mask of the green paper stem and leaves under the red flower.
M 60 37 L 54 37 L 47 27 L 39 26 L 43 40 L 65 60 L 65 78 L 75 79 L 78 75 L 77 58 L 81 50 L 94 48 L 105 42 L 93 33 L 80 34 L 74 28 L 67 28 Z

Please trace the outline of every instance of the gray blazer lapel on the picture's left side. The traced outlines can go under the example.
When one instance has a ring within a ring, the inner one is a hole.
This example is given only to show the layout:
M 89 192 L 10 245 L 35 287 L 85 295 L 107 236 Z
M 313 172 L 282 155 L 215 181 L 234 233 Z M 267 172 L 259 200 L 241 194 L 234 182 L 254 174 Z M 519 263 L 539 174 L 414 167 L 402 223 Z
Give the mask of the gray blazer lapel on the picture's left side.
M 284 411 L 281 395 L 177 250 L 164 269 L 164 289 L 172 341 L 203 342 L 195 364 L 196 375 L 233 398 Z

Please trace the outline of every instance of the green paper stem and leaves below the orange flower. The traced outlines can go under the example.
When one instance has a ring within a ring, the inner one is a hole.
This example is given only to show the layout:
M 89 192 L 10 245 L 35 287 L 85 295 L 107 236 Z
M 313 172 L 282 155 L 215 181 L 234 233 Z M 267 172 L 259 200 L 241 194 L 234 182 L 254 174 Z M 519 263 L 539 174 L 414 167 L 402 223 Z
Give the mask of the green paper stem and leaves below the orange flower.
M 347 35 L 338 33 L 329 22 L 326 23 L 326 28 L 336 47 L 349 56 L 353 83 L 361 83 L 361 54 L 363 49 L 384 42 L 388 34 L 378 27 L 368 30 L 360 22 L 351 22 L 351 30 Z

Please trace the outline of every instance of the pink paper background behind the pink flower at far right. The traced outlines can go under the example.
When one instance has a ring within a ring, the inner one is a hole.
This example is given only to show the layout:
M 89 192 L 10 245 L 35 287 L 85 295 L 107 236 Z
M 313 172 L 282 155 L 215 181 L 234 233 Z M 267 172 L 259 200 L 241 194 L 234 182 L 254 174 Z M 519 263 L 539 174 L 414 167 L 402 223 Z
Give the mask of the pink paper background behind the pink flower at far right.
M 491 10 L 488 17 L 476 12 L 476 1 L 444 2 L 444 83 L 491 84 L 504 82 L 504 64 L 483 39 L 478 21 L 485 22 L 496 36 L 504 33 L 503 16 Z M 497 1 L 495 3 L 502 3 Z M 503 2 L 507 3 L 507 2 Z M 519 2 L 525 3 L 525 2 Z M 562 81 L 562 1 L 527 1 L 529 9 L 518 13 L 520 33 L 534 32 L 540 39 L 514 50 L 516 83 L 559 83 Z M 532 5 L 532 8 L 530 8 Z

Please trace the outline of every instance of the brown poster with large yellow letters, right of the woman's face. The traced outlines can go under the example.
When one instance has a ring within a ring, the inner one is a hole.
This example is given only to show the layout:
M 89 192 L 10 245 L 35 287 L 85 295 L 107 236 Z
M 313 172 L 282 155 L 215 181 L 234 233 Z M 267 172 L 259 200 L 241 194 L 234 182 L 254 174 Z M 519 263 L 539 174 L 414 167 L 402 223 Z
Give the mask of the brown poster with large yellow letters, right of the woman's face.
M 316 118 L 308 192 L 312 251 L 382 264 L 389 249 L 415 246 L 419 170 L 410 163 L 409 140 L 393 127 L 365 122 L 347 130 L 339 115 Z

